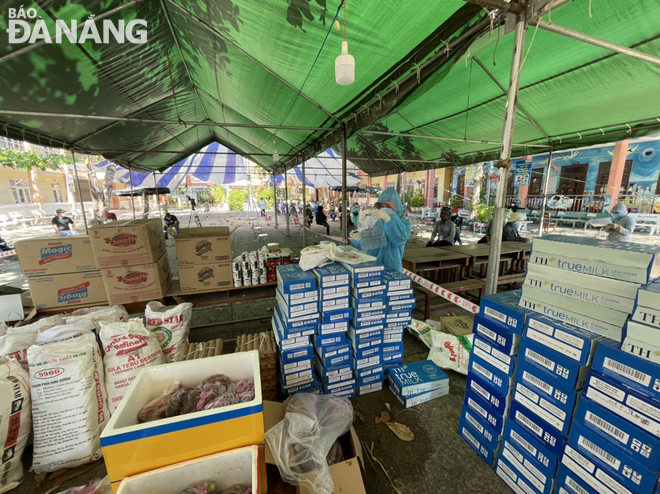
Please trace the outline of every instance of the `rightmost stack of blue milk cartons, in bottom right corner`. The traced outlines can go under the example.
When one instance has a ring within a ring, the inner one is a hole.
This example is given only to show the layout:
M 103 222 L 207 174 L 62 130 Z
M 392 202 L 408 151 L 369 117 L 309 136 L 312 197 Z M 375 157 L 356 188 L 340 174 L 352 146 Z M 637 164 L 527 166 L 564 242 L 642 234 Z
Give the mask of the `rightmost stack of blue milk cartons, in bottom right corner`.
M 657 492 L 660 365 L 598 344 L 557 473 L 557 492 Z

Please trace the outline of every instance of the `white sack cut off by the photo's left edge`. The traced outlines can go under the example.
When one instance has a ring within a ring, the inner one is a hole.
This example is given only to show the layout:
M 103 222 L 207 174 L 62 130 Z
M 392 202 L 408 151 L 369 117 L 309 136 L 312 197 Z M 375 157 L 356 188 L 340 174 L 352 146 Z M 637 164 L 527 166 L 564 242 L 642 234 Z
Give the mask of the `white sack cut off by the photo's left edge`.
M 0 358 L 0 493 L 23 480 L 21 456 L 32 431 L 28 375 L 14 359 Z

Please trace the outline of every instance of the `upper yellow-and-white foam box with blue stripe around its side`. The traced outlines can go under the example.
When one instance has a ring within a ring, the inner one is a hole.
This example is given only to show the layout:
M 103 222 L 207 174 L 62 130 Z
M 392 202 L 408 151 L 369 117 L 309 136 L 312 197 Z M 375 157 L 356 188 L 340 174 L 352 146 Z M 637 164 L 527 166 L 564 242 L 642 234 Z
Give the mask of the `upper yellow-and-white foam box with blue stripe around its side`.
M 138 412 L 174 381 L 192 386 L 222 373 L 254 379 L 252 401 L 138 423 Z M 101 434 L 111 483 L 156 468 L 264 441 L 259 352 L 174 362 L 140 370 Z M 175 444 L 176 447 L 171 447 Z

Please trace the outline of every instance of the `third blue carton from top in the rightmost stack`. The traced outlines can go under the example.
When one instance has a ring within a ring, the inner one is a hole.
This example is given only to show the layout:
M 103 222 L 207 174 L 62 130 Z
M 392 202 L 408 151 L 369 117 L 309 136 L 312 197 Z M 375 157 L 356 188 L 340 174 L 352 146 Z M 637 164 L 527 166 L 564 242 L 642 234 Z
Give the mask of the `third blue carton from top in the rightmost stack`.
M 641 465 L 654 472 L 660 471 L 660 438 L 644 429 L 587 398 L 580 400 L 574 423 L 613 442 Z

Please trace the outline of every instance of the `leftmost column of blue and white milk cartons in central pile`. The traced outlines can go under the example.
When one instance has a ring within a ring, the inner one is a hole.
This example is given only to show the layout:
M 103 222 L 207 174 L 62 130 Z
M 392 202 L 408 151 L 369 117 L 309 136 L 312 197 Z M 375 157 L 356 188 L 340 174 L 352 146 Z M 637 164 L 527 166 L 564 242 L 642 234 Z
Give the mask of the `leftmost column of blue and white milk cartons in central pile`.
M 284 394 L 318 391 L 320 382 L 312 369 L 311 335 L 319 324 L 316 278 L 298 264 L 277 266 L 277 306 L 272 324 L 280 360 Z

